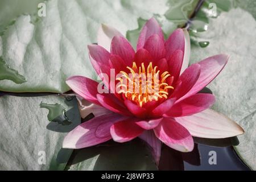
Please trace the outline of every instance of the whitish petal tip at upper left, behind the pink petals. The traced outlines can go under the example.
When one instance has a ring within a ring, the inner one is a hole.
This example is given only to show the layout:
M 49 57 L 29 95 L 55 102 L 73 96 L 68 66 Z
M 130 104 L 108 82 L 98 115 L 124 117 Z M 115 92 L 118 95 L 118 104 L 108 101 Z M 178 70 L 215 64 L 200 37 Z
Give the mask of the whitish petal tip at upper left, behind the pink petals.
M 106 24 L 101 24 L 98 28 L 98 45 L 104 47 L 107 51 L 110 52 L 111 41 L 114 36 L 123 36 L 118 30 L 113 27 L 110 27 Z

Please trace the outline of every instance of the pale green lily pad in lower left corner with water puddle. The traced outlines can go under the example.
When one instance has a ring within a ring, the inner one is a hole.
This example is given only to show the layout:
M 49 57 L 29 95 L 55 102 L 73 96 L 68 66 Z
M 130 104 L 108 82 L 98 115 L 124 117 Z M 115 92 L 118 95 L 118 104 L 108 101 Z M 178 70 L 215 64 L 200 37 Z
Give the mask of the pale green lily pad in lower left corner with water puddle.
M 71 125 L 48 121 L 40 102 L 58 103 L 67 109 Z M 0 97 L 0 169 L 63 170 L 72 150 L 62 148 L 63 139 L 81 122 L 77 101 L 59 96 Z

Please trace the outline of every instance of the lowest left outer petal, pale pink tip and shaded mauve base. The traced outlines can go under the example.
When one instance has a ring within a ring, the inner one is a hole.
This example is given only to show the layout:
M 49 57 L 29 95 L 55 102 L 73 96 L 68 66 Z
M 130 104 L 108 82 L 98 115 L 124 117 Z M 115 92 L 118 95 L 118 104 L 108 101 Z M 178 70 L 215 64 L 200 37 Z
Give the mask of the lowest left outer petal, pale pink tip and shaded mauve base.
M 124 119 L 122 115 L 110 113 L 81 123 L 63 141 L 63 148 L 85 148 L 110 140 L 110 127 Z

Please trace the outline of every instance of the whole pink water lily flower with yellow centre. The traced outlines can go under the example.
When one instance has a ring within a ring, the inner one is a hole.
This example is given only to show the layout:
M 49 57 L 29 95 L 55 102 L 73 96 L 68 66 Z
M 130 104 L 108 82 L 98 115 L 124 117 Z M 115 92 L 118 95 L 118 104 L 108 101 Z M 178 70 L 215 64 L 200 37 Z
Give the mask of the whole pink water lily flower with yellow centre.
M 193 137 L 228 138 L 243 134 L 231 119 L 209 109 L 213 94 L 198 93 L 226 65 L 229 56 L 216 55 L 188 67 L 190 42 L 187 30 L 178 28 L 167 40 L 154 18 L 142 28 L 137 51 L 117 30 L 102 25 L 98 45 L 90 45 L 89 57 L 98 75 L 151 73 L 159 76 L 158 92 L 133 93 L 130 90 L 99 93 L 98 82 L 82 76 L 67 79 L 69 87 L 86 102 L 86 113 L 95 117 L 72 130 L 63 142 L 64 148 L 84 148 L 113 139 L 127 142 L 143 139 L 159 162 L 161 144 L 181 152 L 193 150 Z M 116 76 L 115 75 L 115 76 Z M 104 85 L 113 91 L 109 80 Z M 133 78 L 131 78 L 133 82 Z M 115 84 L 127 88 L 122 78 Z M 134 84 L 136 84 L 134 82 Z M 143 85 L 138 84 L 139 89 Z

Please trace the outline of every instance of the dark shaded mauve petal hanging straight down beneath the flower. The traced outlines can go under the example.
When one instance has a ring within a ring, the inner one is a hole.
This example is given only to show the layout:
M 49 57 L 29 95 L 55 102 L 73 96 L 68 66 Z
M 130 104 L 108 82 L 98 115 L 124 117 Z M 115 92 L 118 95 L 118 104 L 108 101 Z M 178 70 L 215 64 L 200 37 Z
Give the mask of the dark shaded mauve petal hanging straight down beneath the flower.
M 139 138 L 144 140 L 148 144 L 148 146 L 150 146 L 152 156 L 155 159 L 156 165 L 158 166 L 161 156 L 162 142 L 155 137 L 155 133 L 153 130 L 144 131 L 141 135 L 139 135 Z

